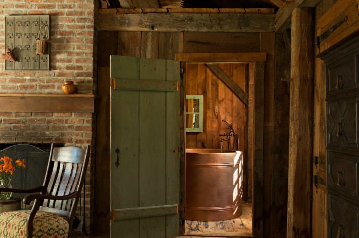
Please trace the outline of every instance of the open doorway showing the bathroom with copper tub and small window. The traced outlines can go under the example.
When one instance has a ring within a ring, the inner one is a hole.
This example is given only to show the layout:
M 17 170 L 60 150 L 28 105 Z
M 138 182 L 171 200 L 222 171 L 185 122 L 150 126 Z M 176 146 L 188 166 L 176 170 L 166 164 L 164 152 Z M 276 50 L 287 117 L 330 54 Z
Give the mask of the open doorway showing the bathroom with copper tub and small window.
M 184 235 L 252 236 L 254 67 L 184 67 Z

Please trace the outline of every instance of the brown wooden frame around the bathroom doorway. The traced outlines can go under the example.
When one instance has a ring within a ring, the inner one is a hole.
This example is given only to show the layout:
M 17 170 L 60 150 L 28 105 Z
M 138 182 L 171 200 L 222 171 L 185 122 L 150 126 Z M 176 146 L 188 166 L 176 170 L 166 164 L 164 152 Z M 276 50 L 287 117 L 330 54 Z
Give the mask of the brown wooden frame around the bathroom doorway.
M 248 63 L 254 69 L 253 96 L 253 199 L 252 199 L 252 233 L 253 237 L 263 237 L 263 131 L 264 131 L 264 70 L 267 53 L 176 53 L 175 60 L 181 61 L 180 80 L 180 156 L 179 156 L 179 219 L 180 233 L 184 233 L 184 193 L 185 193 L 185 76 L 183 74 L 186 63 Z M 247 118 L 248 120 L 249 118 Z M 249 132 L 248 132 L 249 133 Z

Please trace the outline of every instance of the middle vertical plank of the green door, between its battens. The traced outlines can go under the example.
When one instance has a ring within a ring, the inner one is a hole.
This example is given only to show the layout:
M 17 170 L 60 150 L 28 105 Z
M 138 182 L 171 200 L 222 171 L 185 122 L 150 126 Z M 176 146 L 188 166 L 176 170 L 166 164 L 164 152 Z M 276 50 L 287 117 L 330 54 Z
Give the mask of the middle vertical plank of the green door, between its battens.
M 140 79 L 166 80 L 165 60 L 140 59 Z M 140 207 L 166 203 L 166 94 L 140 91 Z M 165 237 L 165 217 L 141 218 L 140 237 Z

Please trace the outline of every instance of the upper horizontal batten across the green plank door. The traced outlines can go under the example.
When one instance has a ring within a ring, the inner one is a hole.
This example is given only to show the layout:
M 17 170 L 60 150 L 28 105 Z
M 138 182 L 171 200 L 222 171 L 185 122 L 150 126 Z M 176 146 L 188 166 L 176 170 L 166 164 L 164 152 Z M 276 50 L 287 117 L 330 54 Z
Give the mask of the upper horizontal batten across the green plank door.
M 178 91 L 177 81 L 148 79 L 113 79 L 115 90 Z

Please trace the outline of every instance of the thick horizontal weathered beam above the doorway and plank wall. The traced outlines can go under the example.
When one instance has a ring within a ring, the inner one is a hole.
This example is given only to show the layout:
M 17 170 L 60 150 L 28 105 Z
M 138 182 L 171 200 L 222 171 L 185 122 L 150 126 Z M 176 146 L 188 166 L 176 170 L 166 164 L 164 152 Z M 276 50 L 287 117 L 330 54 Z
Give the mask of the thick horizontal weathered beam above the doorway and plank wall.
M 274 32 L 274 14 L 100 14 L 100 31 Z

